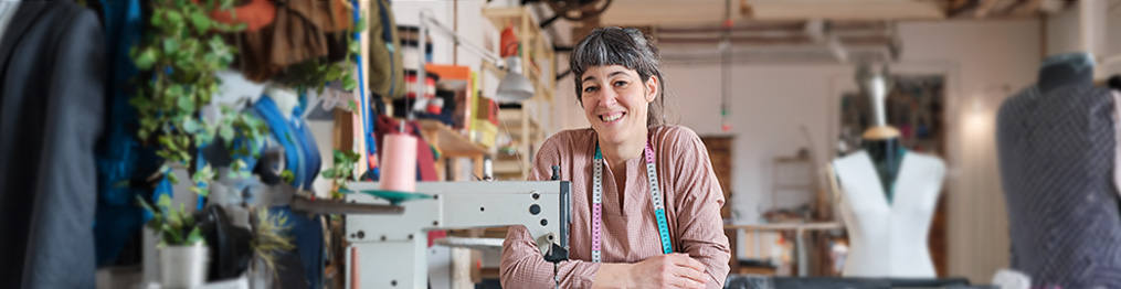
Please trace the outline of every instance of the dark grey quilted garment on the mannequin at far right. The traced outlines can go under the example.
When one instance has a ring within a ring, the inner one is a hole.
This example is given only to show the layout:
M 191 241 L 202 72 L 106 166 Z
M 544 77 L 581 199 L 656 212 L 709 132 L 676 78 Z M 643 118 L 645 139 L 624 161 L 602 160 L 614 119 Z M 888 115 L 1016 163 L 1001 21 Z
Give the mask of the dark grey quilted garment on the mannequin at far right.
M 1109 90 L 1032 85 L 997 115 L 1011 267 L 1032 286 L 1121 288 L 1118 136 Z

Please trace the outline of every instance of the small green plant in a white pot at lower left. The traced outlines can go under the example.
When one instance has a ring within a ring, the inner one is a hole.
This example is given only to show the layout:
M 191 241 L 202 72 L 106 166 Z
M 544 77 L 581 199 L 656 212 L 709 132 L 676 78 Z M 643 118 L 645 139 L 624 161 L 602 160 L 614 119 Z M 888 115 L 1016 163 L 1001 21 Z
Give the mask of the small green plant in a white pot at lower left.
M 152 214 L 148 227 L 158 233 L 156 250 L 163 287 L 193 288 L 205 283 L 210 251 L 194 215 L 183 204 L 174 207 L 168 195 L 160 195 L 155 206 L 139 199 Z

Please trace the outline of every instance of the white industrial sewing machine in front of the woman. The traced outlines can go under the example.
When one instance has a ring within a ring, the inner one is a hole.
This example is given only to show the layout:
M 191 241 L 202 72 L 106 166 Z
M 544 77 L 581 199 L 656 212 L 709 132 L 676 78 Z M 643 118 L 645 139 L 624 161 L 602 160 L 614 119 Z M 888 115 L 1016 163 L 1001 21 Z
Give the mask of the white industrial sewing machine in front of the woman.
M 378 183 L 349 187 L 379 189 Z M 346 288 L 427 288 L 425 251 L 430 230 L 525 225 L 547 261 L 568 259 L 568 181 L 421 181 L 416 190 L 424 195 L 396 202 L 369 194 L 346 195 L 348 203 L 399 203 L 405 209 L 399 215 L 345 216 Z

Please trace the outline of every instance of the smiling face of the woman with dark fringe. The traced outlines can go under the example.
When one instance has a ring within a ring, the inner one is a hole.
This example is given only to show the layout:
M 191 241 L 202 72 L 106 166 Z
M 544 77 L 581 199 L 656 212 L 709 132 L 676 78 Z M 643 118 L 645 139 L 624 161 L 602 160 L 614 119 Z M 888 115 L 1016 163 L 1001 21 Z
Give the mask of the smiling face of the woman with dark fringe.
M 638 72 L 621 65 L 592 66 L 581 80 L 584 116 L 600 140 L 618 144 L 646 132 L 647 109 L 658 95 L 658 78 L 646 83 Z

